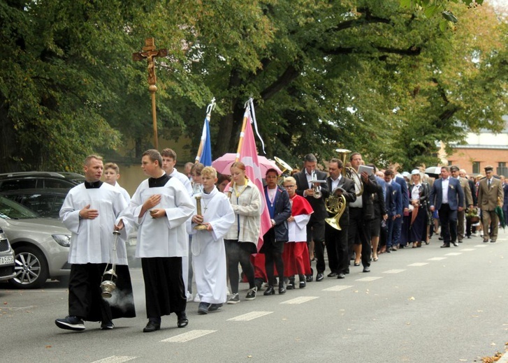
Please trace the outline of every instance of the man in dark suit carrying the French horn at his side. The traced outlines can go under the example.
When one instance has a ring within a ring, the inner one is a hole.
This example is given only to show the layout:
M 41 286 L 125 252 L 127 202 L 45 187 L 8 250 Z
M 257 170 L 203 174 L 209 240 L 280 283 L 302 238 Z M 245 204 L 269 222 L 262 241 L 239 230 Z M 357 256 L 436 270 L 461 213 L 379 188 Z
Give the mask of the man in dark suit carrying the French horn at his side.
M 328 266 L 331 273 L 328 277 L 337 276 L 338 279 L 346 277 L 346 271 L 349 268 L 349 253 L 347 248 L 347 228 L 349 225 L 349 203 L 356 200 L 354 182 L 341 175 L 342 161 L 338 158 L 332 158 L 328 163 L 328 172 L 330 176 L 326 179 L 326 184 L 330 192 L 330 198 L 342 198 L 346 200 L 344 213 L 339 218 L 340 230 L 333 228 L 326 223 L 325 242 L 326 252 L 328 253 Z M 337 212 L 328 212 L 329 218 L 333 218 Z

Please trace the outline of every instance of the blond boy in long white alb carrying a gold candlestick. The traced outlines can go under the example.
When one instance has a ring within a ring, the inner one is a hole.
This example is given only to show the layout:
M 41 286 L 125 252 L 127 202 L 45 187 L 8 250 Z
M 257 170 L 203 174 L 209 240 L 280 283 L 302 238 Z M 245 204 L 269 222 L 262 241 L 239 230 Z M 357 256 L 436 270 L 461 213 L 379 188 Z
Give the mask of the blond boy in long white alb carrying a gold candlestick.
M 192 217 L 192 244 L 196 288 L 201 302 L 199 314 L 216 311 L 226 302 L 226 249 L 224 235 L 235 221 L 235 214 L 228 197 L 215 187 L 217 171 L 207 166 L 201 171 L 203 193 L 201 215 Z M 197 213 L 197 212 L 196 212 Z M 205 229 L 194 229 L 203 225 Z

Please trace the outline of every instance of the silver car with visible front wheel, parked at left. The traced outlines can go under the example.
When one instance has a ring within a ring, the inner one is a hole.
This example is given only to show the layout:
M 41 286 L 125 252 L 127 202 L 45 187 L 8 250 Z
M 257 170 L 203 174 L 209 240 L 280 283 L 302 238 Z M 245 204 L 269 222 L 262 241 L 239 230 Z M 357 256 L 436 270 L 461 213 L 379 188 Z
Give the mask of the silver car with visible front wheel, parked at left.
M 15 276 L 9 283 L 18 288 L 41 288 L 47 279 L 68 276 L 71 232 L 61 221 L 41 218 L 13 200 L 0 197 L 0 228 L 15 251 Z

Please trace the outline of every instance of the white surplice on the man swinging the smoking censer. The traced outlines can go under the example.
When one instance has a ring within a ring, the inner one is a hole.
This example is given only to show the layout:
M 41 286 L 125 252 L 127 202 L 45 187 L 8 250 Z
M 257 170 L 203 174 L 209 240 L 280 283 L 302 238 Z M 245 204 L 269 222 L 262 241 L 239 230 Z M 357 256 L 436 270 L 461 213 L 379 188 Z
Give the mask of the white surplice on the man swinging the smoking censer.
M 90 205 L 97 209 L 95 219 L 80 219 L 80 210 Z M 113 258 L 115 236 L 113 230 L 119 214 L 127 207 L 122 194 L 114 186 L 102 183 L 100 188 L 85 188 L 85 183 L 72 188 L 60 209 L 60 218 L 72 232 L 68 262 L 71 264 L 117 263 L 127 265 L 124 240 L 131 225 L 124 220 L 125 228 L 117 242 L 116 260 Z M 123 241 L 122 241 L 123 239 Z

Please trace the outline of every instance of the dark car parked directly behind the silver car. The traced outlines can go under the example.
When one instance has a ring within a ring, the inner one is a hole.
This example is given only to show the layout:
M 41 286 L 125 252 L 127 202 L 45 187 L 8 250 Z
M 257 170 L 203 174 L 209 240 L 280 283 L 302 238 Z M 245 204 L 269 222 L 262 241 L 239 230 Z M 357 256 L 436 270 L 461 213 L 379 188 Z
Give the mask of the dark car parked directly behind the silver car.
M 71 188 L 17 189 L 0 195 L 20 203 L 41 217 L 59 218 L 61 205 Z

